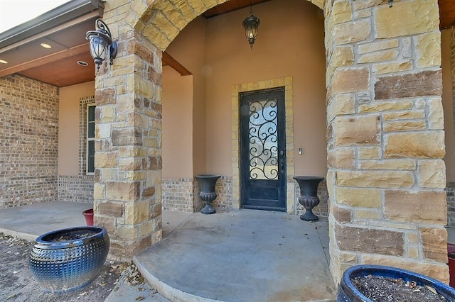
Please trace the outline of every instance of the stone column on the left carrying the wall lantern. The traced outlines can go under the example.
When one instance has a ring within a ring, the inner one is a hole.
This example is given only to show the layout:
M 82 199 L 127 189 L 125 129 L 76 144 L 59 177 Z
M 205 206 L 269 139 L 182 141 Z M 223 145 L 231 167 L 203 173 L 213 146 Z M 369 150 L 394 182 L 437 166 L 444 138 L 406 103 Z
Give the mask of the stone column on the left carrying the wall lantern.
M 107 6 L 119 53 L 101 67 L 95 93 L 95 224 L 119 260 L 161 240 L 161 50 L 129 11 L 121 1 Z

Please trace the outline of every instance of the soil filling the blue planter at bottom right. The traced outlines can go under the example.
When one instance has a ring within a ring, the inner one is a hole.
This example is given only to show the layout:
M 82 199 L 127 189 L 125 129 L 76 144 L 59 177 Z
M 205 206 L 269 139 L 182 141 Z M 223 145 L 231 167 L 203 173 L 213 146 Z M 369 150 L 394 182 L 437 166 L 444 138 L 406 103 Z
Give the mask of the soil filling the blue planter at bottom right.
M 375 302 L 449 302 L 431 286 L 419 286 L 415 281 L 372 275 L 356 276 L 350 281 Z

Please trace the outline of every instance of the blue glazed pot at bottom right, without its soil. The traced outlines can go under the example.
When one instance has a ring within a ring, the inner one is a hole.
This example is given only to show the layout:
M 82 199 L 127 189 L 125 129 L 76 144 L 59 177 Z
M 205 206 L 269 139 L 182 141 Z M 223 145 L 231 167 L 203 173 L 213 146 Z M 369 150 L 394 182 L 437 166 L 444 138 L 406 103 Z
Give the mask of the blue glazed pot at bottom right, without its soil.
M 394 279 L 401 278 L 403 281 L 415 281 L 419 286 L 431 286 L 447 301 L 455 301 L 455 289 L 450 286 L 432 279 L 429 276 L 417 274 L 407 271 L 405 269 L 398 269 L 396 267 L 385 267 L 381 265 L 356 265 L 346 269 L 341 279 L 340 286 L 338 286 L 337 302 L 373 302 L 365 297 L 354 284 L 350 281 L 351 278 L 356 276 L 384 276 Z

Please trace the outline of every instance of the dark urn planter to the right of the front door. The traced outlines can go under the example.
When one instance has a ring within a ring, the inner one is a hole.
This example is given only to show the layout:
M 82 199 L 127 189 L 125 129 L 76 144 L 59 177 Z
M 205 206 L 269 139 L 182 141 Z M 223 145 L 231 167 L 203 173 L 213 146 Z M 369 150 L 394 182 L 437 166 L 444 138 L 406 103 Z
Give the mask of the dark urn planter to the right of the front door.
M 316 221 L 319 217 L 314 215 L 313 208 L 319 205 L 318 186 L 323 177 L 293 177 L 300 186 L 299 203 L 306 209 L 300 216 L 304 221 Z

